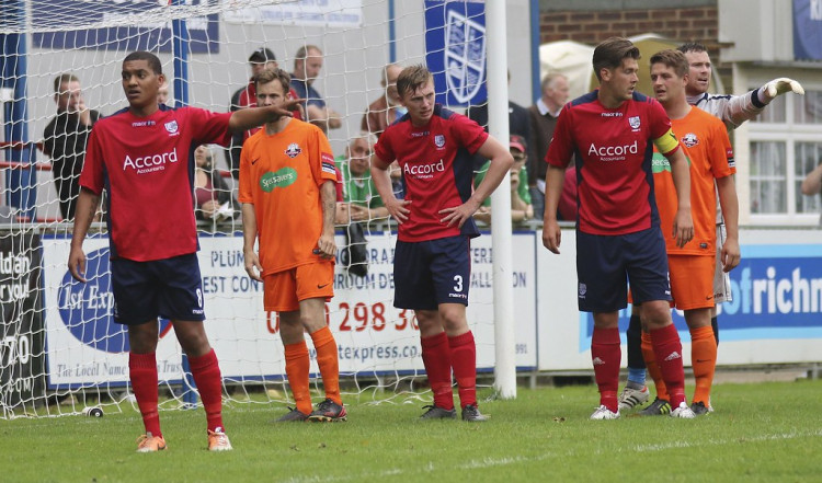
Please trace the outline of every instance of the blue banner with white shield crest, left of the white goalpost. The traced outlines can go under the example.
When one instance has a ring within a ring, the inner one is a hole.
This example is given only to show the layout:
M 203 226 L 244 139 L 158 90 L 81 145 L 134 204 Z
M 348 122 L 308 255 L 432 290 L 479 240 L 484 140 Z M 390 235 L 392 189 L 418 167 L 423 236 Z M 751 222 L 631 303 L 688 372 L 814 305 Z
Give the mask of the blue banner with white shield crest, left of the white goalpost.
M 436 102 L 487 101 L 484 11 L 484 1 L 425 1 L 425 64 L 434 74 Z

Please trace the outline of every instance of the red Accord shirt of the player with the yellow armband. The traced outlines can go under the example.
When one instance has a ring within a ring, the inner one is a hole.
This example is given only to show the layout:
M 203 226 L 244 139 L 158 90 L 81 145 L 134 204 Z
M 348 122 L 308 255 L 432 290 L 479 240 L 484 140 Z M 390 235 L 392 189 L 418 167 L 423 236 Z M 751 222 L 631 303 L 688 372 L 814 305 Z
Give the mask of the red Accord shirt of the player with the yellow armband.
M 597 91 L 566 104 L 546 161 L 566 168 L 578 156 L 580 231 L 613 235 L 660 225 L 651 158 L 653 140 L 670 129 L 662 105 L 636 92 L 615 110 L 600 103 Z

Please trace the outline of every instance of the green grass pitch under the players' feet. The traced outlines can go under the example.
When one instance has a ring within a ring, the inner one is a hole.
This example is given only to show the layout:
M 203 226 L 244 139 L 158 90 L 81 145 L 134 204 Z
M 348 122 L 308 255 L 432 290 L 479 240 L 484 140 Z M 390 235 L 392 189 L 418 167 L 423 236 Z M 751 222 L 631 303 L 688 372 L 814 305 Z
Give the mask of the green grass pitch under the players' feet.
M 689 389 L 690 391 L 690 389 Z M 592 422 L 593 386 L 520 389 L 492 419 L 420 422 L 419 403 L 346 401 L 349 422 L 274 424 L 235 404 L 235 450 L 205 450 L 197 411 L 161 413 L 169 450 L 138 455 L 136 412 L 0 422 L 3 482 L 812 482 L 822 481 L 822 381 L 718 384 L 696 421 Z M 488 395 L 488 393 L 483 394 Z

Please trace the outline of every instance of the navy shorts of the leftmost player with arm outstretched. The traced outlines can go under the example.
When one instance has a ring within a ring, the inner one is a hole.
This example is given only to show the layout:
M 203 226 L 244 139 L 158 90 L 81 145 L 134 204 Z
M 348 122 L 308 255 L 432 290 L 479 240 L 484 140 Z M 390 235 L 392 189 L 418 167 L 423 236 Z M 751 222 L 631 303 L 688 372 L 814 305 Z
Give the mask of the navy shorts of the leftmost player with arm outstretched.
M 111 266 L 115 322 L 139 325 L 158 317 L 205 320 L 196 253 L 151 262 L 112 258 Z

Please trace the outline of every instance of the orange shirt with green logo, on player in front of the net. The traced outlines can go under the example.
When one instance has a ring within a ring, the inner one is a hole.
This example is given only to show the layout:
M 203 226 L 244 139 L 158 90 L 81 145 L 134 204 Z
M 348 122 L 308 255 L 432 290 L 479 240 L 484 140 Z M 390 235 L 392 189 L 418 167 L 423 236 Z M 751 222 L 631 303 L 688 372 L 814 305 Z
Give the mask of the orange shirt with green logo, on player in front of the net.
M 326 181 L 336 183 L 334 157 L 312 124 L 290 119 L 283 131 L 261 129 L 242 145 L 239 200 L 254 205 L 262 276 L 318 261 Z

